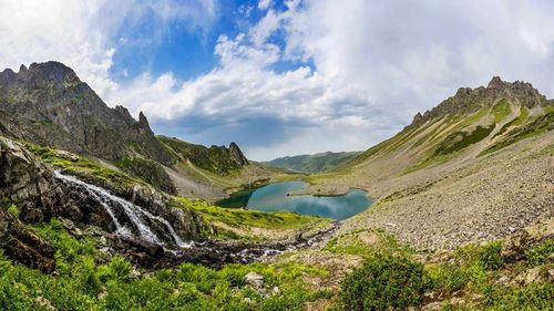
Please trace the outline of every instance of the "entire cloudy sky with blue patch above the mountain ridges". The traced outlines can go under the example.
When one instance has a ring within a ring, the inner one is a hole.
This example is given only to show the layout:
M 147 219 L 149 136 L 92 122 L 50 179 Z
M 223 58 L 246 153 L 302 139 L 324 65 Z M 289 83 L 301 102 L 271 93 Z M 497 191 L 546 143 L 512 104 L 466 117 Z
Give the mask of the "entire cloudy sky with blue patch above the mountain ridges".
M 73 68 L 155 132 L 366 149 L 493 75 L 554 97 L 552 0 L 0 0 L 0 68 Z

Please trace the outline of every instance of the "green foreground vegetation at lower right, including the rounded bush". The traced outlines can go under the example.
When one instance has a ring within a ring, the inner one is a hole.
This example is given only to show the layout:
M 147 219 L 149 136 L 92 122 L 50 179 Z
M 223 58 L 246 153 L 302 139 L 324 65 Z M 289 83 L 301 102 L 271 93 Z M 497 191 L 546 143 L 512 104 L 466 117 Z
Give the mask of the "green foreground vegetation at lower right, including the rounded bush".
M 370 241 L 368 243 L 368 241 Z M 326 250 L 358 255 L 366 263 L 347 276 L 337 310 L 553 310 L 554 240 L 517 246 L 468 245 L 422 258 L 382 231 L 358 230 L 332 239 Z M 511 252 L 512 251 L 512 252 Z

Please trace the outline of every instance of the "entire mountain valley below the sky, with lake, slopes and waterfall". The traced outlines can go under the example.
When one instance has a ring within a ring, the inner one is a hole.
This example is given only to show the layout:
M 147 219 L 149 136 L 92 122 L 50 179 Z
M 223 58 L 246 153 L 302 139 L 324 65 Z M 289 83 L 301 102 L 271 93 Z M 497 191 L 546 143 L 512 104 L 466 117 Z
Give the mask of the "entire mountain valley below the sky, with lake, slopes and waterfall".
M 0 309 L 552 309 L 553 114 L 493 77 L 271 167 L 155 135 L 62 63 L 4 70 Z

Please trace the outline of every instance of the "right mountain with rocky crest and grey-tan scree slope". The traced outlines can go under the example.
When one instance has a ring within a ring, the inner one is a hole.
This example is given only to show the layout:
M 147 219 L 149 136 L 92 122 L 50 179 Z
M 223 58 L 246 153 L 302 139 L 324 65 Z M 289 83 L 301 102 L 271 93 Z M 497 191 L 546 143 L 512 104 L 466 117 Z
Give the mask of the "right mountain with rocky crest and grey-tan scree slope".
M 417 114 L 393 137 L 327 174 L 308 193 L 367 189 L 377 201 L 343 230 L 380 227 L 419 248 L 504 237 L 552 215 L 554 101 L 493 77 Z

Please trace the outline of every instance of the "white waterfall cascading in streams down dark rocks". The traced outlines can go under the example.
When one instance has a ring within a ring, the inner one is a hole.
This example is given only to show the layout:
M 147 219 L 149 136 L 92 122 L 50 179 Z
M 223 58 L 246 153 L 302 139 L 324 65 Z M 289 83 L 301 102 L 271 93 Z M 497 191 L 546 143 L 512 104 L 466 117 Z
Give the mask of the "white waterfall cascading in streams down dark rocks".
M 176 246 L 178 246 L 181 248 L 192 247 L 191 242 L 185 242 L 181 239 L 181 237 L 175 232 L 175 229 L 173 228 L 173 226 L 166 219 L 164 219 L 160 216 L 152 215 L 151 212 L 144 210 L 142 207 L 140 207 L 133 203 L 130 203 L 121 197 L 114 196 L 101 187 L 86 184 L 86 183 L 84 183 L 84 182 L 82 182 L 73 176 L 63 175 L 59 170 L 55 170 L 54 173 L 55 173 L 55 177 L 58 179 L 60 179 L 64 183 L 79 185 L 79 186 L 83 187 L 84 189 L 86 189 L 88 194 L 92 198 L 94 198 L 94 200 L 100 203 L 102 205 L 102 207 L 104 207 L 106 212 L 110 215 L 110 217 L 112 218 L 112 221 L 116 228 L 115 234 L 124 236 L 124 237 L 129 237 L 129 238 L 141 238 L 141 239 L 150 241 L 150 242 L 165 245 L 163 242 L 163 239 L 161 239 L 145 222 L 145 220 L 147 219 L 147 220 L 153 221 L 153 222 L 162 224 L 165 227 L 165 229 L 168 231 L 170 236 L 172 237 L 172 239 Z M 119 205 L 123 208 L 123 211 L 125 212 L 125 215 L 129 217 L 131 222 L 133 222 L 133 225 L 138 230 L 138 236 L 135 236 L 130 228 L 123 226 L 117 220 L 117 217 L 115 216 L 115 212 L 113 210 L 114 205 Z

